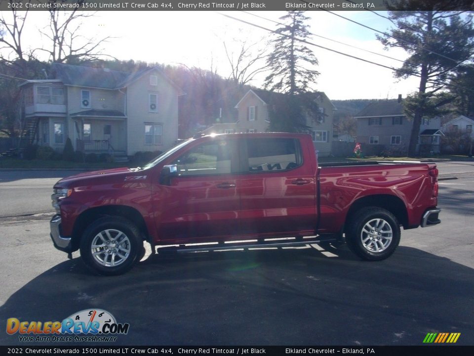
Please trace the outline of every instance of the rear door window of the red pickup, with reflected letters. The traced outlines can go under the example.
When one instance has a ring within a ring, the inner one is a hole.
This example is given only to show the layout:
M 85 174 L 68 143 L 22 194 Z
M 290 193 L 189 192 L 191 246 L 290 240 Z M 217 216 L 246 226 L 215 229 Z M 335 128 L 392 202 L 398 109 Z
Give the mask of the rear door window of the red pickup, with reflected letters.
M 248 172 L 287 171 L 302 164 L 295 138 L 247 138 Z

